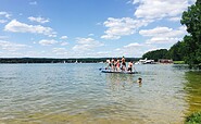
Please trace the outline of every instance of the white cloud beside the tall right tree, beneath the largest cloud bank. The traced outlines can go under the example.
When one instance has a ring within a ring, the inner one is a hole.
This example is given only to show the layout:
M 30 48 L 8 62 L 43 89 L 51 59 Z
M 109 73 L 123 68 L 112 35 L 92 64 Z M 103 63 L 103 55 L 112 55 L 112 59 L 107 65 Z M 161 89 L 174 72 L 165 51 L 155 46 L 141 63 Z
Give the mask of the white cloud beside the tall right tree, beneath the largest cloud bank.
M 186 34 L 186 27 L 181 26 L 178 29 L 155 27 L 153 29 L 141 29 L 139 34 L 151 37 L 147 40 L 147 44 L 174 44 Z

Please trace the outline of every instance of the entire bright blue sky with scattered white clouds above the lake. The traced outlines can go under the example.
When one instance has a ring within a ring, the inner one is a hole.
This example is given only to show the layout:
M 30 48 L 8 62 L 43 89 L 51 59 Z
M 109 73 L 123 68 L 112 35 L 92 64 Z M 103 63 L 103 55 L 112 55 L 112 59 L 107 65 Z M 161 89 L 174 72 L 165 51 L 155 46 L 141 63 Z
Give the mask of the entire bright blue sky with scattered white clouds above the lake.
M 1 0 L 0 58 L 139 58 L 187 34 L 194 0 Z

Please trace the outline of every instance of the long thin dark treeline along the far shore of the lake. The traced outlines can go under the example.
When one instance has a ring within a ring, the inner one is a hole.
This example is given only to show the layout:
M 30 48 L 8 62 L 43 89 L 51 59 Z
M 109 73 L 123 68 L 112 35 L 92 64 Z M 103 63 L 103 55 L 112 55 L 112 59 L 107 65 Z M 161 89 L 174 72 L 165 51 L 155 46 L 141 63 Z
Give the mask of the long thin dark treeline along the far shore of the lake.
M 49 58 L 0 58 L 0 63 L 98 63 L 106 62 L 112 58 L 78 58 L 78 59 L 49 59 Z M 113 58 L 121 59 L 121 58 Z M 138 61 L 139 58 L 126 58 L 126 61 Z

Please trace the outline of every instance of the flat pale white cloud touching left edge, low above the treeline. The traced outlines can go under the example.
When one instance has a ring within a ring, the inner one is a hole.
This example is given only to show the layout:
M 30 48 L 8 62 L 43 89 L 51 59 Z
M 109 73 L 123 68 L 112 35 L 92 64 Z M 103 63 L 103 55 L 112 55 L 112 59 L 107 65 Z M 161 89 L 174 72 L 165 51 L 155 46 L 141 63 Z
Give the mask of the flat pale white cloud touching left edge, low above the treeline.
M 0 40 L 0 49 L 2 49 L 2 50 L 17 51 L 17 50 L 25 49 L 25 48 L 30 48 L 30 46 L 14 44 L 11 41 L 5 41 L 5 40 Z

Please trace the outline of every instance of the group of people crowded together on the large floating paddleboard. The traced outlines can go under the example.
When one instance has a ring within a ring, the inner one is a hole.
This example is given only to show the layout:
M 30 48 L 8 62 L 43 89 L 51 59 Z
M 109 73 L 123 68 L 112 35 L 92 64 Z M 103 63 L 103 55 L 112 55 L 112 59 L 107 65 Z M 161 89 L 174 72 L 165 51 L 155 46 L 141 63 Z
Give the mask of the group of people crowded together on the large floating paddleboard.
M 112 59 L 112 60 L 106 60 L 106 63 L 109 64 L 106 70 L 112 70 L 112 71 L 129 71 L 133 72 L 134 63 L 130 61 L 128 63 L 128 66 L 126 66 L 126 59 L 123 57 L 122 60 L 117 59 Z

